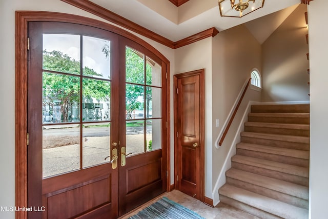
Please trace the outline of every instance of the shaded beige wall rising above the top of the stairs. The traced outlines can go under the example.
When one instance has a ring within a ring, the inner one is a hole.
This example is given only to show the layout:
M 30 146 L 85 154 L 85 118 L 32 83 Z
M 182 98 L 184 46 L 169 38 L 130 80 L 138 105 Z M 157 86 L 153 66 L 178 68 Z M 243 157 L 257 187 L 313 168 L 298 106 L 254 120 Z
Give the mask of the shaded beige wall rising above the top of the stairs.
M 262 101 L 309 101 L 309 52 L 299 5 L 262 45 Z

